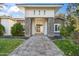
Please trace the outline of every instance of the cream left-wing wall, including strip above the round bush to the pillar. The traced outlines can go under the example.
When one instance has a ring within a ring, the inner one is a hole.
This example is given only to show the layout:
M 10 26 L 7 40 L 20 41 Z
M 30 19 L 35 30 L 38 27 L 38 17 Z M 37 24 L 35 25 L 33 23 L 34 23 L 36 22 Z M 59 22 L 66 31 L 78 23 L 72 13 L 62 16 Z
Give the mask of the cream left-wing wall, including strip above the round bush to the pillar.
M 9 19 L 9 18 L 3 18 L 1 19 L 1 24 L 5 27 L 5 33 L 4 35 L 11 35 L 11 27 L 15 24 L 15 23 L 21 23 L 22 25 L 24 25 L 24 20 L 13 20 L 13 19 Z

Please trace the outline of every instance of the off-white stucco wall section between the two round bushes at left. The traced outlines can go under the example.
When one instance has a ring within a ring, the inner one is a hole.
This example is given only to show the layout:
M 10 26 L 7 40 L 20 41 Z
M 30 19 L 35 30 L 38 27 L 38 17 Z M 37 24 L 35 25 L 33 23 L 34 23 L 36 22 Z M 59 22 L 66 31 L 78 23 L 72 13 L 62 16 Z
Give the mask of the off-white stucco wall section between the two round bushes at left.
M 10 19 L 1 19 L 1 24 L 5 27 L 4 35 L 11 35 L 11 27 L 16 22 Z

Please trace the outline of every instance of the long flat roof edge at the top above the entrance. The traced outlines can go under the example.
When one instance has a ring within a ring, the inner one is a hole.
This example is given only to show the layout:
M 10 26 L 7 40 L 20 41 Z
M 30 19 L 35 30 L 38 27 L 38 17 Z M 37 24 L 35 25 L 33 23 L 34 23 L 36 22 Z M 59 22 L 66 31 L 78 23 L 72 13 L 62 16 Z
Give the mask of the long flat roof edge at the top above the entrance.
M 61 7 L 64 4 L 57 3 L 18 3 L 17 6 L 22 7 Z

